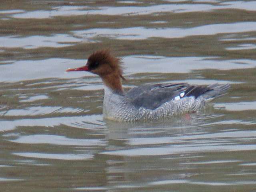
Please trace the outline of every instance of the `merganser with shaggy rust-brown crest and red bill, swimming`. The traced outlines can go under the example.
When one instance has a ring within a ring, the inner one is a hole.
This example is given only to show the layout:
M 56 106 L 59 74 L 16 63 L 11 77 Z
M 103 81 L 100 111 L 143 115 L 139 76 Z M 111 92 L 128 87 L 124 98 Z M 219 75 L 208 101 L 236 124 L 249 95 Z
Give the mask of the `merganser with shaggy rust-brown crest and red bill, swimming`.
M 230 88 L 229 84 L 147 84 L 125 93 L 121 64 L 121 58 L 112 56 L 109 50 L 99 50 L 89 56 L 85 66 L 67 70 L 88 71 L 100 76 L 104 84 L 103 117 L 111 120 L 158 120 L 184 112 L 196 112 Z

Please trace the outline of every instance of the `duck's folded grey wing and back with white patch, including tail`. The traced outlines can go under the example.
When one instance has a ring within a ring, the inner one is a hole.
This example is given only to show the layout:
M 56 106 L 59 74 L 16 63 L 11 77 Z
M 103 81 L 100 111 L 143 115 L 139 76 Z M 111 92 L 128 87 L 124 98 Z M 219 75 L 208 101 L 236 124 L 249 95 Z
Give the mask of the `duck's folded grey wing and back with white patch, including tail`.
M 204 96 L 205 99 L 215 98 L 230 88 L 229 84 L 210 86 L 196 86 L 187 83 L 154 84 L 132 88 L 126 94 L 137 108 L 144 107 L 154 110 L 165 102 L 186 96 Z

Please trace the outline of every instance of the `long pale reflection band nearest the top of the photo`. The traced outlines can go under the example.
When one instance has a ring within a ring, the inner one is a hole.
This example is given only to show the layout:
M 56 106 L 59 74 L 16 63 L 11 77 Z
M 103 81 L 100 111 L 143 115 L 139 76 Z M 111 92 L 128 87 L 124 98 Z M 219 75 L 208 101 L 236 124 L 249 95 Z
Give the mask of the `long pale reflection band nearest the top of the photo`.
M 165 1 L 165 2 L 168 2 Z M 241 9 L 248 11 L 256 10 L 256 2 L 244 2 L 244 1 L 236 1 L 236 2 L 223 2 L 220 1 L 200 1 L 194 0 L 194 2 L 198 2 L 198 4 L 191 4 L 184 2 L 183 4 L 176 4 L 176 2 L 180 1 L 169 1 L 175 4 L 163 4 L 159 2 L 159 4 L 152 4 L 150 6 L 58 6 L 52 7 L 52 10 L 37 10 L 31 12 L 24 12 L 22 10 L 12 10 L 10 12 L 3 11 L 3 13 L 12 14 L 13 18 L 50 18 L 55 16 L 75 16 L 75 15 L 84 15 L 84 14 L 102 14 L 102 15 L 148 15 L 153 13 L 161 13 L 161 12 L 174 12 L 174 13 L 184 13 L 184 12 L 202 12 L 202 11 L 213 11 L 217 9 Z M 136 4 L 141 5 L 142 2 L 136 1 L 120 1 L 119 3 L 126 4 Z M 0 12 L 1 13 L 1 12 Z

